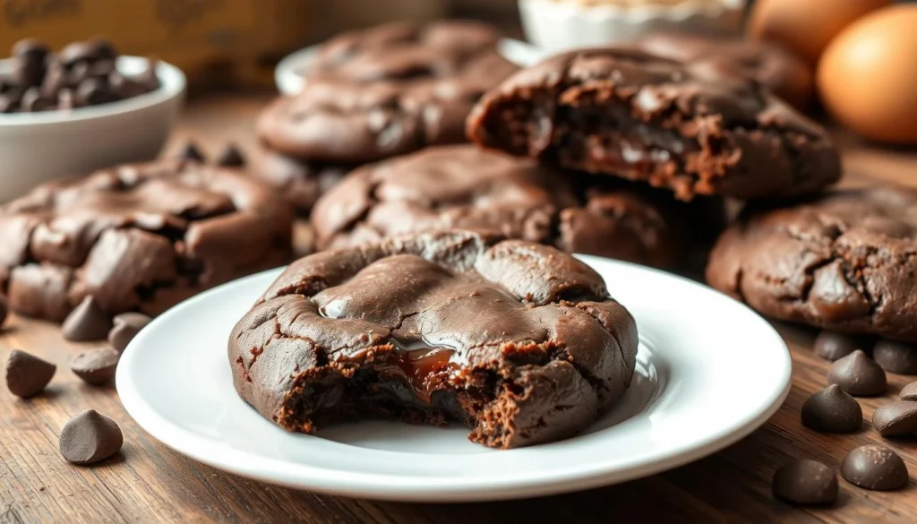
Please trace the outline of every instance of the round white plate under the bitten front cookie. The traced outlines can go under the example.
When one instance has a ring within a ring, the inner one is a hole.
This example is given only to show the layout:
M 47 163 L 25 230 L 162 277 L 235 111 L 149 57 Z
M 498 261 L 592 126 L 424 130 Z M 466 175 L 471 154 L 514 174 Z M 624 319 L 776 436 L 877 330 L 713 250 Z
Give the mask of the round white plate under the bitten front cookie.
M 197 295 L 156 318 L 117 369 L 127 412 L 167 446 L 261 481 L 341 496 L 475 501 L 543 496 L 654 474 L 763 424 L 790 386 L 790 355 L 747 307 L 701 284 L 583 256 L 637 320 L 634 384 L 584 434 L 495 451 L 463 427 L 359 422 L 288 433 L 236 394 L 226 340 L 279 274 Z

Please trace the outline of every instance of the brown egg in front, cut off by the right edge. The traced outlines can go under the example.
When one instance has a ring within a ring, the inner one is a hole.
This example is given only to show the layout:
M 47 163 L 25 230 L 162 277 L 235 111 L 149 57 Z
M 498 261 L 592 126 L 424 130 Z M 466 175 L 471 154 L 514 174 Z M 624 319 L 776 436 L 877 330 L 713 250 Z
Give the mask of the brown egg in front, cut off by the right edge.
M 824 50 L 816 82 L 845 127 L 917 143 L 917 5 L 889 6 L 845 28 Z

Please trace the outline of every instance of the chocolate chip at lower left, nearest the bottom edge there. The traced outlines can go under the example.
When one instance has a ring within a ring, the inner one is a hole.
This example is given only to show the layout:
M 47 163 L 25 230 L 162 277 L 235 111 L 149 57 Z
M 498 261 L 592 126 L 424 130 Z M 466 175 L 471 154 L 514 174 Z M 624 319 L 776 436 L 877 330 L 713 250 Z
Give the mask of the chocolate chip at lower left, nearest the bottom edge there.
M 76 464 L 97 463 L 121 450 L 124 435 L 116 422 L 94 409 L 70 419 L 61 429 L 61 455 Z

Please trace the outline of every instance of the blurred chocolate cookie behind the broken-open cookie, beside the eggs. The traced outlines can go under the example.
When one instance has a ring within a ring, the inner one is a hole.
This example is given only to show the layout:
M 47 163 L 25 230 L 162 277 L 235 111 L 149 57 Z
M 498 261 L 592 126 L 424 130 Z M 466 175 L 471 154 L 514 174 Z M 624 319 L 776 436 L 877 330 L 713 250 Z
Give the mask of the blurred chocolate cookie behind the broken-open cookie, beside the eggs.
M 770 42 L 658 32 L 635 41 L 633 47 L 684 62 L 691 72 L 713 79 L 736 74 L 745 76 L 800 110 L 809 106 L 812 99 L 809 66 Z

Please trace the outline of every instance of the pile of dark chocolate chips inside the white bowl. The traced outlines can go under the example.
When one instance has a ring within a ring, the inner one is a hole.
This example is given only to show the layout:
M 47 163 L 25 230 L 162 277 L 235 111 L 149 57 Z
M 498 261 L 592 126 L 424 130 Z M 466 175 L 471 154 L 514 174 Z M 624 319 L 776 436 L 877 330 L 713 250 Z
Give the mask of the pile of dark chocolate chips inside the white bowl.
M 37 39 L 19 40 L 12 60 L 0 73 L 0 113 L 98 106 L 160 88 L 155 61 L 126 76 L 116 70 L 117 51 L 106 39 L 73 42 L 59 53 Z

